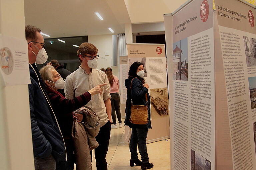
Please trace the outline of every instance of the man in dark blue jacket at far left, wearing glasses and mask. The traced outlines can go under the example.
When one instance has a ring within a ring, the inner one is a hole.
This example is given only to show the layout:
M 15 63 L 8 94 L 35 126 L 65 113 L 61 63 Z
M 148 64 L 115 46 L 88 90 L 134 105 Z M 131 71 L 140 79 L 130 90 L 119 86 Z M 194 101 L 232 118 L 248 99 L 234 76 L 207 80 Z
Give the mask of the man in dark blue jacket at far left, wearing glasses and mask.
M 66 160 L 66 149 L 43 80 L 35 65 L 43 64 L 47 60 L 45 43 L 40 32 L 35 26 L 25 26 L 31 79 L 28 90 L 34 164 L 35 170 L 55 170 L 56 161 Z

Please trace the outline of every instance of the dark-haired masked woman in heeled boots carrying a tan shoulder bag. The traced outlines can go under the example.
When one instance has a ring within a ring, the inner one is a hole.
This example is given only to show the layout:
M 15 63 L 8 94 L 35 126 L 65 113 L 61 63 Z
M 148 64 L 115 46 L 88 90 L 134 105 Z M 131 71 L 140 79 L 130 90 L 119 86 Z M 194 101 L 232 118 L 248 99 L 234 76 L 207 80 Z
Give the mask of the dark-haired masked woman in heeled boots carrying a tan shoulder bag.
M 151 128 L 150 122 L 150 96 L 148 94 L 148 84 L 145 83 L 144 76 L 144 66 L 141 62 L 134 62 L 129 70 L 128 79 L 125 80 L 125 87 L 127 88 L 127 99 L 125 108 L 125 125 L 132 128 L 132 135 L 130 139 L 130 152 L 131 160 L 130 166 L 141 165 L 141 169 L 145 170 L 153 168 L 153 164 L 149 163 L 146 139 L 148 135 L 148 129 Z M 133 79 L 134 78 L 134 79 Z M 133 79 L 133 81 L 132 81 Z M 131 86 L 132 81 L 132 88 Z M 146 97 L 148 96 L 148 102 L 146 103 Z M 131 116 L 131 101 L 133 105 L 144 105 L 148 106 L 148 123 L 145 125 L 136 125 L 130 122 Z M 139 147 L 139 153 L 141 155 L 142 162 L 138 159 L 137 145 Z

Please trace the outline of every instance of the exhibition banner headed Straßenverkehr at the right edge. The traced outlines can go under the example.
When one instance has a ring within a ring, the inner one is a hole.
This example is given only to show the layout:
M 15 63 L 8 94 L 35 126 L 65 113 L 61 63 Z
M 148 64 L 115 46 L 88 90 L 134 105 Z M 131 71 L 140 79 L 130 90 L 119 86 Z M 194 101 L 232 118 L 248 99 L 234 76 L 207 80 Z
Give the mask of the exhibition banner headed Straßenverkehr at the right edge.
M 215 0 L 216 41 L 219 43 L 218 74 L 223 76 L 225 112 L 216 113 L 216 121 L 225 114 L 229 136 L 222 152 L 231 150 L 229 169 L 256 169 L 256 26 L 255 6 L 238 0 Z M 216 61 L 217 63 L 217 61 Z M 222 70 L 221 70 L 222 69 Z M 220 85 L 221 86 L 221 85 Z M 219 116 L 218 116 L 219 115 Z M 217 118 L 218 117 L 218 118 Z M 218 127 L 217 127 L 218 128 Z M 217 129 L 218 130 L 218 129 Z M 219 130 L 221 131 L 221 130 Z M 224 135 L 224 134 L 221 134 Z M 229 139 L 228 139 L 229 138 Z M 216 147 L 219 148 L 218 140 Z M 229 147 L 231 147 L 229 149 Z M 218 150 L 217 150 L 218 152 Z M 218 158 L 217 158 L 218 159 Z M 221 159 L 219 160 L 221 162 Z M 227 160 L 228 161 L 228 160 Z M 218 161 L 217 161 L 218 162 Z M 223 162 L 224 163 L 224 162 Z M 228 166 L 228 164 L 226 163 Z

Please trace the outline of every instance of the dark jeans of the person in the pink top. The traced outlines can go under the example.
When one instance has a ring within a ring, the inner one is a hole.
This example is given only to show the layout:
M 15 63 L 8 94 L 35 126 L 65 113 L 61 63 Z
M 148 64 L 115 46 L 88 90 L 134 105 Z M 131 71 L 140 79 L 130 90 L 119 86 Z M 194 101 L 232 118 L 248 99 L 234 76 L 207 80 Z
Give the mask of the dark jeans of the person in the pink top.
M 116 116 L 118 119 L 118 123 L 122 123 L 122 118 L 121 118 L 121 112 L 120 112 L 120 96 L 118 93 L 110 93 L 111 96 L 111 107 L 112 107 L 112 121 L 113 124 L 116 124 Z M 115 110 L 116 110 L 116 114 L 115 114 Z

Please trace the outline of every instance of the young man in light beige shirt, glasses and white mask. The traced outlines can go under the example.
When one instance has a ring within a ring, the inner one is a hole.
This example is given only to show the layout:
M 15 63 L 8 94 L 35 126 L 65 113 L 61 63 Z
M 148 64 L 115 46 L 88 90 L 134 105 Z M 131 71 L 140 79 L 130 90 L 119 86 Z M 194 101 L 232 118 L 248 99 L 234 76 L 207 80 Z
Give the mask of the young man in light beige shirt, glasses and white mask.
M 96 136 L 99 146 L 95 149 L 95 160 L 97 170 L 107 170 L 106 154 L 111 130 L 111 96 L 107 75 L 96 69 L 99 57 L 97 53 L 98 49 L 91 43 L 85 42 L 79 46 L 77 56 L 81 65 L 78 70 L 66 78 L 64 92 L 67 99 L 73 99 L 98 84 L 107 83 L 102 87 L 103 93 L 92 96 L 91 101 L 86 105 L 100 117 L 100 131 Z

